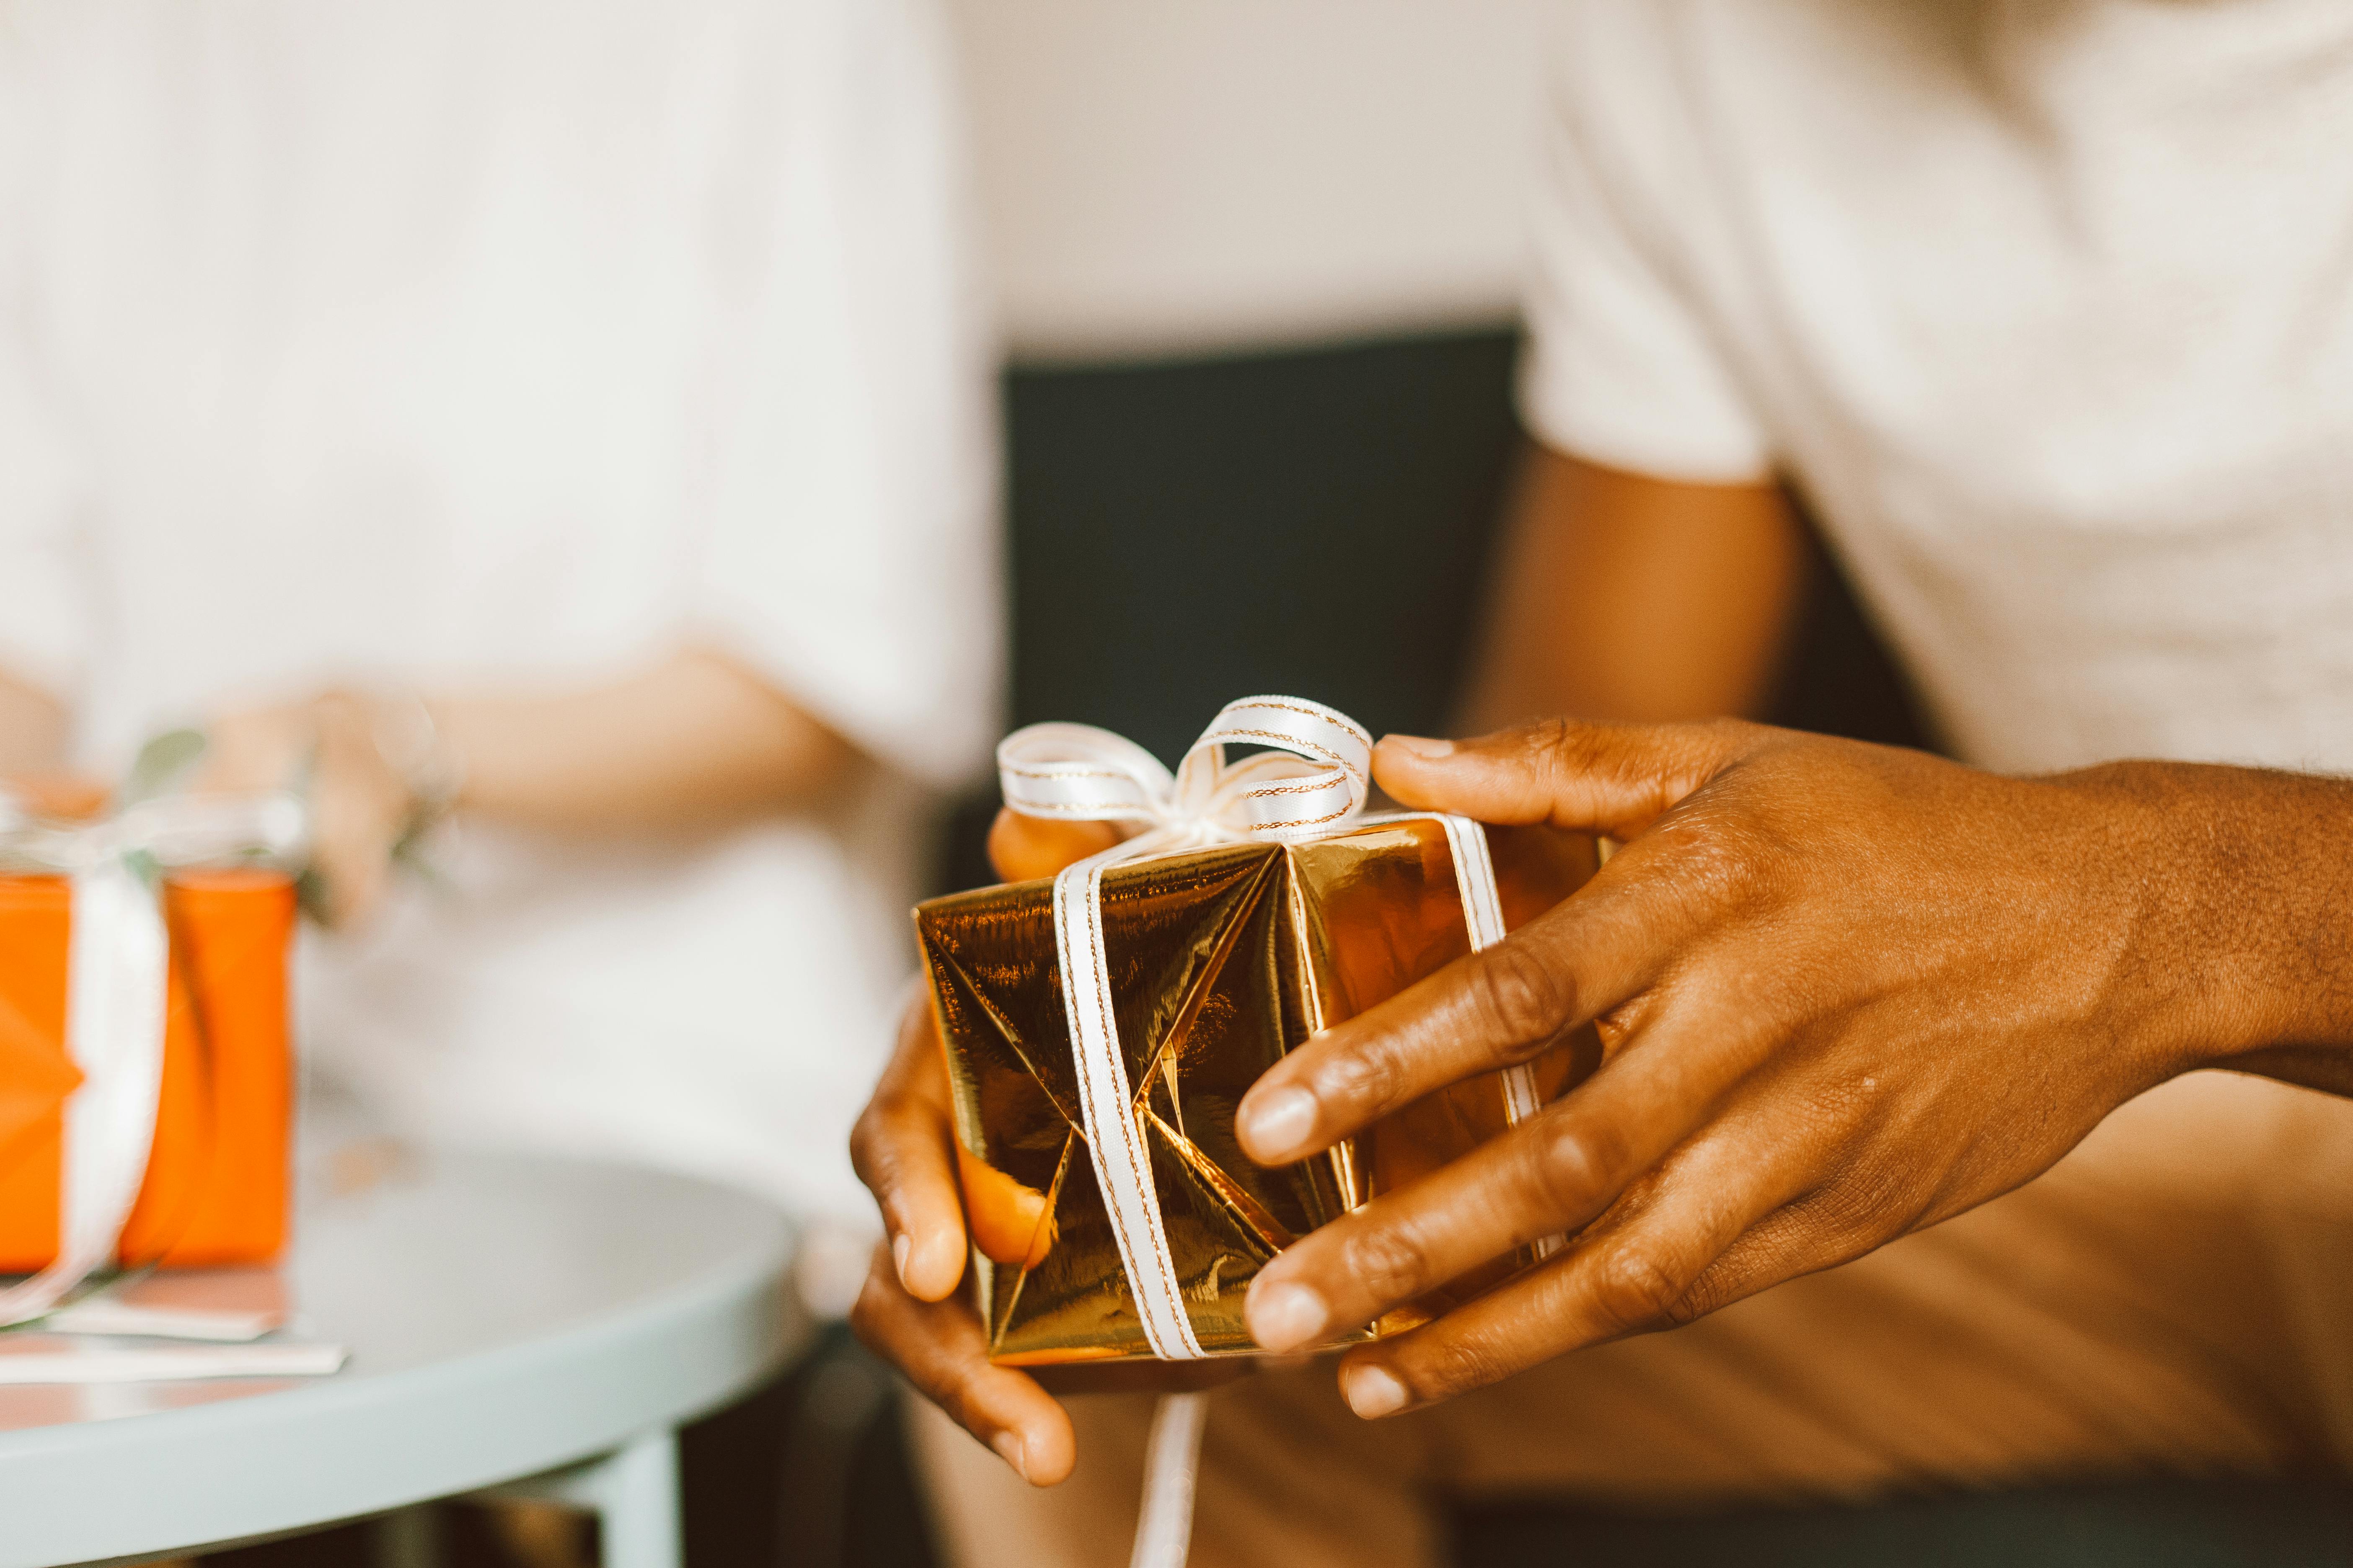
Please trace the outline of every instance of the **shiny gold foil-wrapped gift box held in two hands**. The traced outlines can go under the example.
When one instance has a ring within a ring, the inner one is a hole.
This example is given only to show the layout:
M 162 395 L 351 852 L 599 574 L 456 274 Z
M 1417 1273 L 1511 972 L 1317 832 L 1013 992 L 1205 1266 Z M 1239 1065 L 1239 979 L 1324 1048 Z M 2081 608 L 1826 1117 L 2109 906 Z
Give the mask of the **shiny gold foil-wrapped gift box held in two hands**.
M 1506 929 L 1593 875 L 1591 839 L 1489 827 Z M 1297 1237 L 1511 1124 L 1501 1074 L 1426 1095 L 1334 1150 L 1261 1168 L 1233 1133 L 1285 1051 L 1471 950 L 1445 825 L 1369 823 L 1306 844 L 1231 844 L 1104 872 L 1104 950 L 1134 1114 L 1193 1335 L 1249 1354 L 1242 1295 Z M 1151 1345 L 1085 1150 L 1054 957 L 1054 884 L 915 910 L 955 1091 L 965 1213 L 991 1359 L 1148 1359 Z M 1529 1063 L 1551 1100 L 1600 1060 L 1579 1030 Z M 1534 1260 L 1454 1281 L 1351 1340 L 1398 1333 Z

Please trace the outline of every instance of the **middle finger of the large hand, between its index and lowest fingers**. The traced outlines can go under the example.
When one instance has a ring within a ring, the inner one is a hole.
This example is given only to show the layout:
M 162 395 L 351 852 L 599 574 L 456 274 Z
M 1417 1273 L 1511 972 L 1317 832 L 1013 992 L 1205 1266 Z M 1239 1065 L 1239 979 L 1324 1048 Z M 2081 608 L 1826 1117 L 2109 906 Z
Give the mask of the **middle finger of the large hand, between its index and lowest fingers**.
M 1746 1074 L 1753 1051 L 1715 1027 L 1708 1016 L 1645 1032 L 1529 1121 L 1292 1244 L 1249 1284 L 1252 1338 L 1275 1352 L 1318 1345 L 1489 1258 L 1581 1229 Z

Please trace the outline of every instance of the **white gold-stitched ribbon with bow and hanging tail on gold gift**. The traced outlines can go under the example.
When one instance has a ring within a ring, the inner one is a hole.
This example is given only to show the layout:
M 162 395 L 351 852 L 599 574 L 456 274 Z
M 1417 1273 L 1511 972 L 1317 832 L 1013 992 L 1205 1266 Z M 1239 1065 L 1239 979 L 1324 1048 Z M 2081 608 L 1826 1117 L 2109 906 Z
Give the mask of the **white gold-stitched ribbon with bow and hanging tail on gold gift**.
M 1226 762 L 1228 745 L 1261 745 Z M 1054 877 L 1054 954 L 1061 966 L 1071 1060 L 1094 1180 L 1111 1213 L 1136 1316 L 1153 1354 L 1202 1356 L 1184 1305 L 1184 1281 L 1169 1255 L 1160 1197 L 1134 1088 L 1113 1013 L 1104 961 L 1104 872 L 1129 860 L 1209 844 L 1289 844 L 1344 832 L 1355 823 L 1442 823 L 1454 856 L 1471 950 L 1504 940 L 1504 905 L 1494 884 L 1487 832 L 1464 816 L 1398 811 L 1365 816 L 1372 792 L 1372 736 L 1348 715 L 1297 696 L 1245 696 L 1209 722 L 1176 771 L 1134 741 L 1092 724 L 1031 724 L 998 745 L 1005 804 L 1021 816 L 1136 823 L 1141 832 Z M 1511 1121 L 1537 1110 L 1527 1067 L 1504 1072 Z M 1546 1244 L 1544 1253 L 1558 1241 Z M 1193 1472 L 1205 1420 L 1202 1394 L 1174 1394 L 1153 1418 L 1153 1443 L 1136 1530 L 1134 1568 L 1186 1559 Z

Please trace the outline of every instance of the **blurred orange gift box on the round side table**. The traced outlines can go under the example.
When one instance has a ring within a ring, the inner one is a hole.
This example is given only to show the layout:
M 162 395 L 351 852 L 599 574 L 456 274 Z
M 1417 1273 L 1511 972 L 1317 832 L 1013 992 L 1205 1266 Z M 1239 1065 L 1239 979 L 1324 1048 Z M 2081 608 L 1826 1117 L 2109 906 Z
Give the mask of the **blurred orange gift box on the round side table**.
M 294 884 L 275 870 L 176 870 L 162 1088 L 146 1180 L 118 1241 L 125 1267 L 266 1262 L 285 1248 L 294 1060 L 287 950 Z M 0 1274 L 59 1248 L 73 891 L 0 877 Z

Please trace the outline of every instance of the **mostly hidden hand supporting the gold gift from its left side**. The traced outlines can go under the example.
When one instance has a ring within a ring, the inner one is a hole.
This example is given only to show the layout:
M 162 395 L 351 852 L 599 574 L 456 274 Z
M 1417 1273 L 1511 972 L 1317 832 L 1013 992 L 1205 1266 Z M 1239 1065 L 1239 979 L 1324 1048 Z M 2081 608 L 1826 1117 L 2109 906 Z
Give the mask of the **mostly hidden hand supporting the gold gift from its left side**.
M 1007 882 L 1052 877 L 1064 865 L 1118 844 L 1104 823 L 1049 823 L 1000 811 L 988 858 Z M 1078 1462 L 1071 1418 L 1047 1392 L 1181 1389 L 1242 1375 L 1233 1361 L 1186 1366 L 1125 1363 L 1040 1368 L 988 1363 L 988 1335 L 965 1284 L 965 1208 L 955 1182 L 955 1121 L 948 1067 L 925 990 L 906 1004 L 899 1048 L 849 1135 L 859 1180 L 882 1208 L 885 1246 L 875 1248 L 866 1291 L 849 1321 L 859 1338 L 906 1373 L 925 1396 L 1033 1486 L 1054 1486 Z

